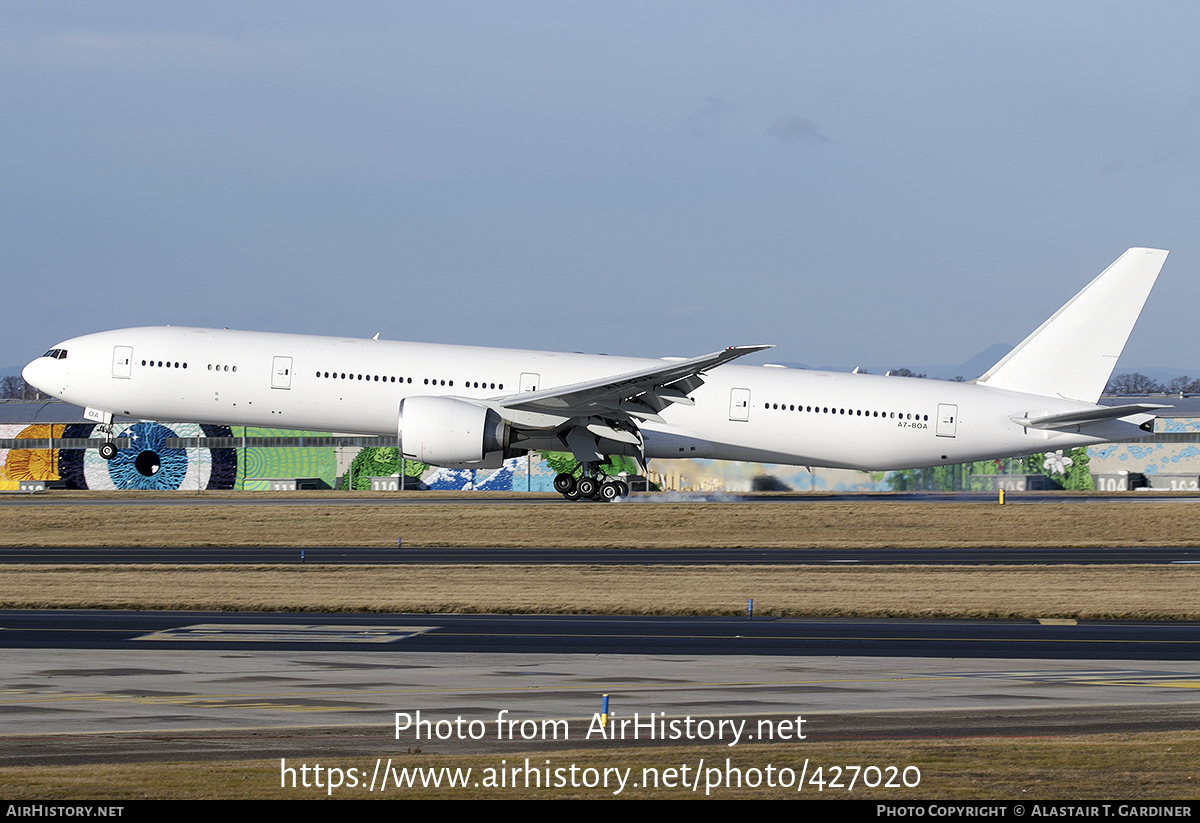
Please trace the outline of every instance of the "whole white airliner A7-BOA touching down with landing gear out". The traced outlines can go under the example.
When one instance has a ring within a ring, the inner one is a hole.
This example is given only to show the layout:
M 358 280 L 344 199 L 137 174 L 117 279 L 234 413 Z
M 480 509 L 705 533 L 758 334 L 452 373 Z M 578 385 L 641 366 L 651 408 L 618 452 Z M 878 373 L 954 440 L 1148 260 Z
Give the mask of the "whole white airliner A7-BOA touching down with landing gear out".
M 398 433 L 444 467 L 570 451 L 554 487 L 613 499 L 614 455 L 886 470 L 1145 437 L 1164 407 L 1097 401 L 1165 260 L 1130 248 L 971 383 L 727 365 L 767 346 L 646 360 L 174 326 L 74 337 L 23 374 L 86 408 L 106 459 L 114 414 Z

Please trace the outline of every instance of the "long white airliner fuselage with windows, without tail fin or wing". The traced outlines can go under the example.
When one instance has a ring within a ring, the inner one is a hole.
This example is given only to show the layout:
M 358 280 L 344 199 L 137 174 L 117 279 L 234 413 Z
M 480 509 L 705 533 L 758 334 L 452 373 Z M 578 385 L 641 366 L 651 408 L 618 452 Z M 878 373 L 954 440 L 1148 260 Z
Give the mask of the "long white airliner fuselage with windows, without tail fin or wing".
M 409 397 L 487 404 L 662 365 L 606 355 L 174 326 L 76 337 L 25 370 L 65 401 L 148 420 L 397 434 Z M 721 365 L 658 420 L 648 458 L 868 470 L 962 463 L 1145 437 L 1139 420 L 1046 431 L 1014 419 L 1094 404 L 974 383 Z M 1148 419 L 1148 415 L 1145 416 Z M 1086 431 L 1082 431 L 1086 428 Z M 518 447 L 520 444 L 516 444 Z M 545 440 L 524 447 L 545 449 Z M 568 450 L 565 443 L 562 450 Z

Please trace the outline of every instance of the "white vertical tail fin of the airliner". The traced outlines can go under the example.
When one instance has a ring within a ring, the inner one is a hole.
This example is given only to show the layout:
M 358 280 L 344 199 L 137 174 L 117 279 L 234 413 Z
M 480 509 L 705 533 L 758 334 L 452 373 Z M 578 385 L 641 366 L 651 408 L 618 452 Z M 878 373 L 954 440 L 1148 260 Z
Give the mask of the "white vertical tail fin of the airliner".
M 1162 250 L 1130 248 L 977 383 L 1094 403 L 1165 260 Z

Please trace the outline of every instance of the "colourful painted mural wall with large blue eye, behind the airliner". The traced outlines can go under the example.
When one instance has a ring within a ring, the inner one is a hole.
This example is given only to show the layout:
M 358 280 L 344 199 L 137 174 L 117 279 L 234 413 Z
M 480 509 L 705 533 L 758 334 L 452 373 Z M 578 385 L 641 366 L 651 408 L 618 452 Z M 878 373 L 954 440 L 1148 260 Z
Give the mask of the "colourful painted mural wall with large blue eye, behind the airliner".
M 1198 419 L 1164 419 L 1166 433 L 1200 433 Z M 89 438 L 94 423 L 0 425 L 0 438 Z M 222 489 L 265 491 L 276 477 L 317 477 L 334 487 L 341 482 L 370 488 L 371 476 L 397 476 L 401 461 L 395 447 L 352 451 L 344 465 L 330 447 L 168 449 L 168 438 L 204 437 L 302 437 L 313 432 L 197 423 L 137 422 L 120 429 L 119 438 L 130 445 L 112 461 L 95 449 L 4 449 L 0 450 L 0 489 L 16 489 L 22 480 L 62 480 L 68 488 L 91 489 Z M 1086 450 L 1087 470 L 1093 476 L 1141 473 L 1153 488 L 1195 488 L 1200 476 L 1200 444 L 1148 443 L 1112 444 Z M 1078 458 L 1076 458 L 1078 459 Z M 552 492 L 557 469 L 541 456 L 516 457 L 499 469 L 456 470 L 406 462 L 412 477 L 406 485 L 428 489 L 496 489 Z M 1044 462 L 1044 461 L 1043 461 Z M 1050 461 L 1054 463 L 1054 461 Z M 1048 471 L 1054 467 L 1046 464 Z M 762 463 L 702 459 L 656 459 L 649 467 L 650 481 L 678 491 L 893 491 L 894 473 L 866 473 L 842 469 L 815 469 Z M 1037 467 L 1025 470 L 1039 471 Z M 1158 481 L 1156 482 L 1156 476 Z

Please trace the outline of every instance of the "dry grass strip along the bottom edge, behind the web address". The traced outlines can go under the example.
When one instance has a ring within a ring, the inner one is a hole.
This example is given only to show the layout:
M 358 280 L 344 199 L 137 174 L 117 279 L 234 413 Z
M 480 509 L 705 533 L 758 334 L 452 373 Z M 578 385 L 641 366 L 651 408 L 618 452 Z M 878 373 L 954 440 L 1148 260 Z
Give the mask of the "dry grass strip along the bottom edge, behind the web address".
M 1069 800 L 1088 799 L 1136 801 L 1147 799 L 1194 799 L 1198 793 L 1195 764 L 1200 762 L 1200 732 L 1170 732 L 1153 734 L 1061 737 L 1050 739 L 964 738 L 955 740 L 917 741 L 844 741 L 803 743 L 791 745 L 673 746 L 644 749 L 588 749 L 552 752 L 518 752 L 450 757 L 436 755 L 406 755 L 380 749 L 379 756 L 392 757 L 400 768 L 472 769 L 472 782 L 486 780 L 485 769 L 523 767 L 526 758 L 534 767 L 580 769 L 632 769 L 630 782 L 643 782 L 642 769 L 676 768 L 686 764 L 694 775 L 701 758 L 706 768 L 731 765 L 748 775 L 750 769 L 763 770 L 773 765 L 794 769 L 798 774 L 809 761 L 809 776 L 817 765 L 822 776 L 832 777 L 830 767 L 894 764 L 920 770 L 916 788 L 870 788 L 859 781 L 853 791 L 827 787 L 817 791 L 806 782 L 799 794 L 792 788 L 769 788 L 763 785 L 714 791 L 718 798 L 799 798 L 799 799 L 886 799 L 910 800 L 968 800 L 1000 799 Z M 373 761 L 362 758 L 332 758 L 304 753 L 288 758 L 290 765 L 320 762 L 325 768 L 373 768 Z M 908 773 L 910 779 L 914 775 Z M 312 780 L 310 773 L 310 780 Z M 370 773 L 365 780 L 370 780 Z M 568 777 L 569 780 L 569 777 Z M 794 779 L 793 779 L 794 780 Z M 842 773 L 844 783 L 850 776 Z M 89 798 L 94 800 L 157 799 L 302 799 L 328 797 L 325 788 L 290 788 L 281 786 L 280 761 L 226 761 L 199 763 L 133 763 L 113 765 L 71 765 L 47 768 L 22 767 L 0 769 L 0 794 L 10 800 L 54 800 Z M 612 789 L 598 788 L 446 788 L 389 789 L 371 794 L 364 788 L 341 788 L 334 797 L 342 799 L 415 799 L 415 798 L 611 798 Z M 686 798 L 704 797 L 703 779 L 697 792 L 691 788 L 632 788 L 622 798 Z M 1114 809 L 1114 813 L 1116 809 Z

